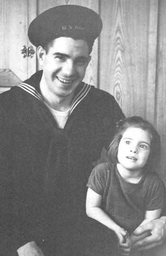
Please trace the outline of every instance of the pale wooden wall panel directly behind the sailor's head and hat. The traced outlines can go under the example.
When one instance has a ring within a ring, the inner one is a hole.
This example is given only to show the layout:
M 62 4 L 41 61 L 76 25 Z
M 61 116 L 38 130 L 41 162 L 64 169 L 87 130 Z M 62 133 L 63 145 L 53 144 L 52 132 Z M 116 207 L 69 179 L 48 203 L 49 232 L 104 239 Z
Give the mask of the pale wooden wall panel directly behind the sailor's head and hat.
M 44 12 L 45 10 L 52 8 L 54 6 L 65 5 L 65 4 L 74 4 L 85 6 L 87 8 L 93 9 L 98 13 L 99 2 L 98 0 L 40 0 L 38 1 L 38 12 Z M 87 72 L 84 78 L 86 83 L 93 84 L 97 86 L 98 84 L 98 40 L 94 43 L 92 58 L 90 60 L 89 66 L 87 68 Z M 41 67 L 39 67 L 41 68 Z

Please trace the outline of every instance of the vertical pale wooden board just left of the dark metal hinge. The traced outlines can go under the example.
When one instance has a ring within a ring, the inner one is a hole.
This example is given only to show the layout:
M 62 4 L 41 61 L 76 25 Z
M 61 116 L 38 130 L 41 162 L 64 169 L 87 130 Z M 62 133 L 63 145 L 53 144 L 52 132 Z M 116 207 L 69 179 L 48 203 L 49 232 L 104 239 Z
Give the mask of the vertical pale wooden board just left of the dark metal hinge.
M 9 69 L 23 81 L 28 77 L 28 59 L 20 51 L 28 45 L 28 0 L 12 0 L 9 13 Z

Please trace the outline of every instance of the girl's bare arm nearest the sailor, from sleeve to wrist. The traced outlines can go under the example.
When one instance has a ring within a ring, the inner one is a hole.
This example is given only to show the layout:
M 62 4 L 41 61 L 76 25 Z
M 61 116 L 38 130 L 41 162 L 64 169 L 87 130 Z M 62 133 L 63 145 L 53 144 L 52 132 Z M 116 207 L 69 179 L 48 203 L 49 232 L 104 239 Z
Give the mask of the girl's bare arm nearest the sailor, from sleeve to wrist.
M 102 196 L 88 188 L 86 200 L 86 213 L 92 219 L 113 230 L 118 236 L 119 243 L 123 243 L 127 231 L 118 226 L 100 207 Z

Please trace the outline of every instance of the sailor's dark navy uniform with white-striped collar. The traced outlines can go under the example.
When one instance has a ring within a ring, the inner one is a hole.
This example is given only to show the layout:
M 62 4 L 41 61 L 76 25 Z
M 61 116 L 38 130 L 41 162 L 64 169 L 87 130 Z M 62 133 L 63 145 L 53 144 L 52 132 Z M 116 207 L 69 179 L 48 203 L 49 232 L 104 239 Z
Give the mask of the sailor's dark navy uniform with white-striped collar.
M 113 96 L 81 83 L 59 129 L 40 95 L 41 75 L 0 95 L 1 223 L 15 249 L 33 240 L 59 248 L 79 239 L 92 163 L 124 117 Z

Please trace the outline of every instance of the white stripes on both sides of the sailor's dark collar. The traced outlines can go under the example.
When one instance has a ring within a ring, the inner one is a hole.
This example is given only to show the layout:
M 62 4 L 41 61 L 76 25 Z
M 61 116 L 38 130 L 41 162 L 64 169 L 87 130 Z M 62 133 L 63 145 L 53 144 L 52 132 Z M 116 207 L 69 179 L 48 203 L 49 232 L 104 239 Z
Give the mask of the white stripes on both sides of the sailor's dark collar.
M 39 101 L 43 101 L 42 96 L 39 94 L 39 92 L 37 92 L 37 90 L 33 86 L 29 85 L 28 83 L 20 83 L 17 86 L 19 86 L 20 88 L 22 88 L 26 92 L 33 95 Z M 70 107 L 69 115 L 73 112 L 73 110 L 76 108 L 76 106 L 87 96 L 88 92 L 90 91 L 90 89 L 92 87 L 93 87 L 92 85 L 84 83 L 84 86 L 82 87 L 82 89 L 79 91 L 79 93 L 73 99 L 73 102 L 72 102 L 71 107 Z

